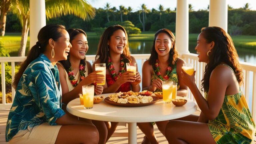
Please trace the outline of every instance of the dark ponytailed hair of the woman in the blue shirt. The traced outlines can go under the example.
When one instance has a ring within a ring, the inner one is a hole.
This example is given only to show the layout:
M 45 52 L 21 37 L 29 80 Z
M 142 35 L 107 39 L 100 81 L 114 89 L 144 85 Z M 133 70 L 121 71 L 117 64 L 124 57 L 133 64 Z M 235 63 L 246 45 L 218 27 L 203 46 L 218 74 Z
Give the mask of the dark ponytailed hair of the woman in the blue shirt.
M 65 27 L 62 25 L 46 25 L 38 33 L 36 45 L 34 45 L 28 52 L 26 60 L 21 64 L 20 69 L 17 74 L 14 76 L 13 88 L 16 89 L 20 78 L 27 68 L 27 66 L 35 60 L 41 53 L 46 50 L 46 46 L 49 44 L 49 39 L 52 38 L 54 41 L 57 41 L 62 35 Z

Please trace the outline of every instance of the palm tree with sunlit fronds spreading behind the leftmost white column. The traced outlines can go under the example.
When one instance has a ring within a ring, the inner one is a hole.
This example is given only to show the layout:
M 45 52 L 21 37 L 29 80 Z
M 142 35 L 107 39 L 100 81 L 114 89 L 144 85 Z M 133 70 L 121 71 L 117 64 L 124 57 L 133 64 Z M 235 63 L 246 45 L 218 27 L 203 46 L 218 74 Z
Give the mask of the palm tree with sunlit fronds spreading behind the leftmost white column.
M 45 8 L 47 19 L 68 14 L 73 14 L 83 20 L 90 20 L 95 16 L 95 9 L 85 0 L 45 0 Z M 12 4 L 12 12 L 18 15 L 18 19 L 22 25 L 21 44 L 18 56 L 25 56 L 29 32 L 29 0 L 16 0 Z

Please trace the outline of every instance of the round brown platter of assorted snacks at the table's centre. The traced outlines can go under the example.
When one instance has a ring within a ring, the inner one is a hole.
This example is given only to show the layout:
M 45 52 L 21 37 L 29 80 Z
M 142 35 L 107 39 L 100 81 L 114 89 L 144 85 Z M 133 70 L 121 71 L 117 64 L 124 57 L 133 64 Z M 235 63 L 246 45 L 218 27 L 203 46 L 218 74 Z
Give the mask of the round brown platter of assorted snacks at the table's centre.
M 155 96 L 142 96 L 140 93 L 129 91 L 109 95 L 104 99 L 104 101 L 108 104 L 116 106 L 141 107 L 152 105 L 159 101 L 159 98 Z

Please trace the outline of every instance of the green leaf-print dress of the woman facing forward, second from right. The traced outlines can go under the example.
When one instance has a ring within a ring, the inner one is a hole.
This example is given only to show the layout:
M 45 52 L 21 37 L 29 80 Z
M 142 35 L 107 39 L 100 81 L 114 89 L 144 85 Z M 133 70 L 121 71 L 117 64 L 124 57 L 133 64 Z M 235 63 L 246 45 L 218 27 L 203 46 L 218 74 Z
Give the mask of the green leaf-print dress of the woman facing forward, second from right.
M 178 79 L 176 67 L 177 67 L 177 61 L 175 62 L 175 64 L 172 67 L 172 72 L 170 73 L 168 80 L 177 83 L 177 89 L 179 90 L 180 89 L 180 85 L 179 85 L 179 79 Z M 158 76 L 156 74 L 153 66 L 152 66 L 152 68 L 153 68 L 153 74 L 151 76 L 151 83 L 153 82 L 153 80 L 158 79 L 158 78 L 161 79 L 162 81 L 164 81 L 162 76 L 160 77 L 160 76 Z M 156 89 L 155 92 L 162 92 L 162 90 Z

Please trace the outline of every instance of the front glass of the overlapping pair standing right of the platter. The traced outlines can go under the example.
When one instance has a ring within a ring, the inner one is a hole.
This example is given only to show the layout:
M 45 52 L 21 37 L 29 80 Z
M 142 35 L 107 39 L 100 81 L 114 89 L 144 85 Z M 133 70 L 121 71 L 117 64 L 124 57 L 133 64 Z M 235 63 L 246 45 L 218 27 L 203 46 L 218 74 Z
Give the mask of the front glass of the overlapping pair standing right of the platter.
M 162 84 L 163 89 L 163 103 L 171 103 L 172 102 L 172 91 L 173 91 L 173 82 L 172 81 L 163 81 Z

